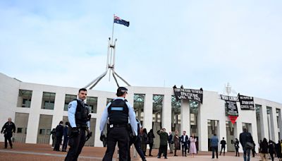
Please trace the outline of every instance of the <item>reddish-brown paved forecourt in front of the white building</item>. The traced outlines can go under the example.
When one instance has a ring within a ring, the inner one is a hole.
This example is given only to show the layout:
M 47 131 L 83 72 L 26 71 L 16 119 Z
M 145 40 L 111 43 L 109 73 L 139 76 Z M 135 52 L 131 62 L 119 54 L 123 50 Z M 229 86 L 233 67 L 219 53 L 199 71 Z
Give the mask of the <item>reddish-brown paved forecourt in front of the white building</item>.
M 102 160 L 106 148 L 99 148 L 99 147 L 84 147 L 82 153 L 80 154 L 79 160 Z M 148 153 L 148 151 L 147 151 Z M 147 157 L 148 161 L 154 160 L 164 160 L 164 157 L 161 159 L 157 158 L 158 150 L 152 150 L 152 155 L 154 157 Z M 131 153 L 133 155 L 133 153 Z M 168 159 L 167 160 L 190 160 L 190 161 L 200 161 L 200 160 L 212 160 L 212 153 L 211 152 L 199 152 L 195 157 L 188 155 L 188 157 L 174 157 L 173 154 L 169 154 L 168 150 Z M 178 150 L 178 155 L 180 155 L 180 150 Z M 243 154 L 240 154 L 240 157 L 235 157 L 235 153 L 228 152 L 226 156 L 220 156 L 219 159 L 221 161 L 235 161 L 240 160 L 243 161 Z M 114 154 L 114 160 L 118 160 L 116 158 L 117 154 Z M 66 157 L 66 152 L 56 152 L 53 151 L 51 145 L 47 144 L 27 144 L 27 143 L 14 143 L 13 149 L 7 148 L 4 149 L 4 143 L 0 142 L 0 160 L 13 160 L 13 161 L 23 161 L 23 160 L 40 160 L 40 161 L 49 161 L 49 160 L 64 160 Z M 138 157 L 132 157 L 133 161 L 140 160 Z M 259 160 L 259 155 L 256 157 L 252 157 L 251 160 Z M 277 160 L 277 158 L 276 158 Z

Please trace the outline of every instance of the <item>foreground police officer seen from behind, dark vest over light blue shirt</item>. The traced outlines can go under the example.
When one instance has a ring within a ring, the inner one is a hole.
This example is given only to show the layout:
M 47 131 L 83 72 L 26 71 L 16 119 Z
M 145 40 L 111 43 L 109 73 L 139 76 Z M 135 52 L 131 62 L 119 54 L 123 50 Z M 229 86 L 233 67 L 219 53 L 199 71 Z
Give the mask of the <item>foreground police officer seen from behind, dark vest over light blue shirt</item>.
M 119 160 L 128 160 L 129 150 L 129 131 L 133 131 L 133 135 L 137 136 L 137 122 L 133 107 L 125 100 L 128 89 L 119 87 L 116 93 L 116 99 L 104 109 L 100 122 L 100 131 L 103 135 L 104 126 L 109 117 L 109 128 L 107 131 L 107 148 L 104 155 L 104 161 L 111 161 L 113 158 L 116 142 L 119 148 Z M 131 129 L 128 129 L 128 118 Z

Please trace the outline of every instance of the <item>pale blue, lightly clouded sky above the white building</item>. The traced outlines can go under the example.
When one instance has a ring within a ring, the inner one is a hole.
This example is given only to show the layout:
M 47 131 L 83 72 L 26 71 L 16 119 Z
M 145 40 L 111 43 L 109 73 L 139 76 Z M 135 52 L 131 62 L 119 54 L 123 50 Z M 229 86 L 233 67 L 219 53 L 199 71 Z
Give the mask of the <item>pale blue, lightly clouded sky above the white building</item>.
M 0 72 L 80 88 L 102 74 L 113 14 L 116 71 L 131 85 L 282 102 L 282 1 L 0 1 Z M 121 83 L 122 84 L 122 83 Z M 115 90 L 109 75 L 97 90 Z

